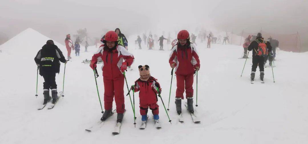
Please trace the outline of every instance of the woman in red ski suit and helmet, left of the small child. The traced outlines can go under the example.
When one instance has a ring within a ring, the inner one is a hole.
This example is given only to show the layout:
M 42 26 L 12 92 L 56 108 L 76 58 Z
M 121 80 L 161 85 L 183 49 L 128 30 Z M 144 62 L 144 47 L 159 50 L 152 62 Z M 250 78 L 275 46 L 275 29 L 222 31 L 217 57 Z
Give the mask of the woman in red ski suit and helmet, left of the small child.
M 124 105 L 124 71 L 132 65 L 134 56 L 123 46 L 118 45 L 118 34 L 114 31 L 106 33 L 104 44 L 92 56 L 90 67 L 96 68 L 97 59 L 103 60 L 103 81 L 104 81 L 104 108 L 105 112 L 101 118 L 106 120 L 112 112 L 113 97 L 115 97 L 117 121 L 121 122 L 125 109 Z

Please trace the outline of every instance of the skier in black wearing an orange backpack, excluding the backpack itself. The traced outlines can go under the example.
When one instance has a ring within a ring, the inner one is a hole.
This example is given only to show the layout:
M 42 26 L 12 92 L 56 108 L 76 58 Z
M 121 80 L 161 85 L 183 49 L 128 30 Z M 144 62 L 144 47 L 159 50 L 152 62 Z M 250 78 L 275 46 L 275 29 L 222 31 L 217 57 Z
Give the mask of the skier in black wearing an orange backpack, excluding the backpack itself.
M 257 55 L 257 51 L 258 51 L 258 47 L 259 47 L 259 43 L 257 41 L 263 43 L 264 38 L 262 37 L 261 33 L 257 34 L 256 40 L 252 41 L 247 48 L 249 51 L 252 51 L 252 68 L 251 68 L 251 74 L 250 74 L 251 81 L 254 80 L 254 76 L 255 76 L 258 64 L 259 64 L 259 68 L 260 68 L 260 79 L 261 79 L 261 81 L 263 81 L 263 78 L 264 78 L 264 57 Z M 265 43 L 265 45 L 268 49 L 268 52 L 270 53 L 272 51 L 272 46 L 270 45 L 270 42 L 264 41 L 264 43 Z

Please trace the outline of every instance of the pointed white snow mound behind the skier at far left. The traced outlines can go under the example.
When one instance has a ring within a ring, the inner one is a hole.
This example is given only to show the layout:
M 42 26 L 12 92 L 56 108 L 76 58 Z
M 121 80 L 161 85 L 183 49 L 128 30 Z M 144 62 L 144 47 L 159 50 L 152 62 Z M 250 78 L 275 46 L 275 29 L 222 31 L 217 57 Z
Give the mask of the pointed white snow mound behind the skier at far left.
M 3 53 L 7 53 L 9 55 L 24 55 L 25 50 L 27 50 L 29 53 L 35 53 L 38 52 L 39 49 L 41 49 L 42 46 L 46 44 L 47 40 L 52 39 L 44 36 L 43 34 L 37 32 L 34 29 L 28 28 L 16 35 L 15 37 L 11 38 L 6 43 L 0 45 L 0 49 Z M 60 49 L 64 48 L 64 46 L 60 43 L 56 41 L 54 41 L 54 43 Z

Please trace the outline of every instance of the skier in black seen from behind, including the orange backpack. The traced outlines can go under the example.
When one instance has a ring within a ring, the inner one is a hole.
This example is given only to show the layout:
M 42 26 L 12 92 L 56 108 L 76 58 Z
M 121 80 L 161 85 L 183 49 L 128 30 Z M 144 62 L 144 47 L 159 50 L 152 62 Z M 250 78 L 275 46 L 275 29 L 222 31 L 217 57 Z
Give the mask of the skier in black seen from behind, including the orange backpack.
M 254 76 L 258 64 L 260 68 L 260 80 L 261 83 L 264 83 L 264 57 L 268 56 L 272 51 L 272 46 L 269 41 L 264 41 L 261 33 L 258 33 L 256 40 L 252 41 L 247 49 L 252 51 L 252 68 L 250 74 L 251 83 L 253 84 L 254 82 Z

